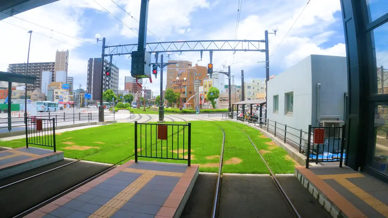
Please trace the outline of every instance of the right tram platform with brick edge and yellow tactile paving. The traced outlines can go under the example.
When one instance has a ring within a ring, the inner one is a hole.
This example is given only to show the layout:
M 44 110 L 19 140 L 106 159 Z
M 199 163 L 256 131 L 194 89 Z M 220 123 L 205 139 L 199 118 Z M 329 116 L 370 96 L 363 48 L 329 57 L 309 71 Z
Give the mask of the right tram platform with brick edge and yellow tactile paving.
M 366 173 L 346 166 L 301 166 L 294 175 L 334 218 L 388 217 L 388 184 Z

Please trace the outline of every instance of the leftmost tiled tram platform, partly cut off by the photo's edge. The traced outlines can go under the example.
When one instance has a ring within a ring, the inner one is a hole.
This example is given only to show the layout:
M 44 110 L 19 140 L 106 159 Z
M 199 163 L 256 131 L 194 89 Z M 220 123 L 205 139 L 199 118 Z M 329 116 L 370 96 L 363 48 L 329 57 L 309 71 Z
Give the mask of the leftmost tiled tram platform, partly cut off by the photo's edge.
M 0 151 L 0 178 L 63 160 L 62 151 L 22 147 Z

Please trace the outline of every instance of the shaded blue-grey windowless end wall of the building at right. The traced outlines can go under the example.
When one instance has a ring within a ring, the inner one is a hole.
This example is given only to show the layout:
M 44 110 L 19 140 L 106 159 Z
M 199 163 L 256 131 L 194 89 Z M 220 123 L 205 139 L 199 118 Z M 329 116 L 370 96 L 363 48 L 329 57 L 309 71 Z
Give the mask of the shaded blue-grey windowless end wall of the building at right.
M 311 55 L 312 125 L 317 120 L 343 120 L 344 93 L 348 92 L 346 57 Z M 320 83 L 319 116 L 317 116 L 317 83 Z

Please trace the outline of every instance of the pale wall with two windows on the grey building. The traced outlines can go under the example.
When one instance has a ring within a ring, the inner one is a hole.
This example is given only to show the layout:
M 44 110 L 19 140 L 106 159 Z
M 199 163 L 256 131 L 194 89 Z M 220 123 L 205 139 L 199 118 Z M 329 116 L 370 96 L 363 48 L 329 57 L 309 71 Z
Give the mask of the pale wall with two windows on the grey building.
M 287 124 L 298 130 L 307 130 L 308 125 L 311 124 L 312 111 L 311 64 L 311 58 L 309 56 L 268 81 L 268 119 L 281 124 Z M 284 114 L 285 93 L 288 92 L 294 92 L 293 115 Z M 278 113 L 275 113 L 273 108 L 274 95 L 279 95 Z M 274 125 L 271 121 L 270 124 Z M 284 129 L 282 125 L 277 125 L 277 127 Z M 288 131 L 291 131 L 291 128 L 288 128 Z M 294 135 L 300 134 L 296 130 L 291 133 Z

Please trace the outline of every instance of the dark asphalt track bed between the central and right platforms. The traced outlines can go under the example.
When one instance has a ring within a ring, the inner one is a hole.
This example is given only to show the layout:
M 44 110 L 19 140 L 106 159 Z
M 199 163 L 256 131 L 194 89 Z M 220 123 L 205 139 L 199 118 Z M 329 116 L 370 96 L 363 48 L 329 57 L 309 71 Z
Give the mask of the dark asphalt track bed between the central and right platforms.
M 215 175 L 199 175 L 181 218 L 210 217 Z M 283 189 L 303 218 L 331 218 L 294 176 L 278 176 Z M 222 178 L 219 218 L 294 217 L 270 176 L 230 176 Z

